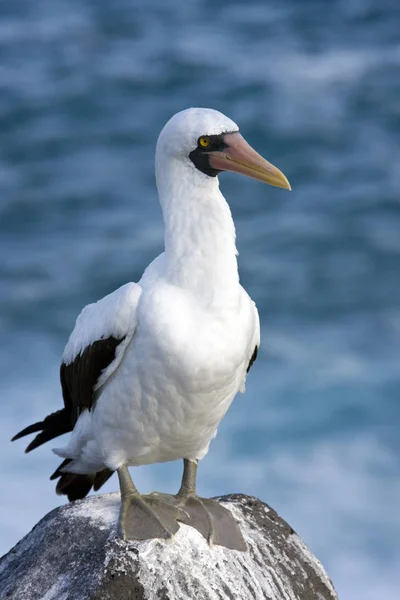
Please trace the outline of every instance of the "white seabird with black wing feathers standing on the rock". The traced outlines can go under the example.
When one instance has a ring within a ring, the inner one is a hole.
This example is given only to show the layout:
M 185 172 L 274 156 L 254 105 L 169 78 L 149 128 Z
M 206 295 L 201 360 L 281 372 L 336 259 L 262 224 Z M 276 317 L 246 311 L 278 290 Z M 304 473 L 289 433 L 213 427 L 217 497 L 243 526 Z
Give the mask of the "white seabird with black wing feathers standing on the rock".
M 230 511 L 196 492 L 207 454 L 260 346 L 254 301 L 239 281 L 236 233 L 219 174 L 232 171 L 290 190 L 230 118 L 189 108 L 156 144 L 165 249 L 141 279 L 86 306 L 60 367 L 64 407 L 26 427 L 26 448 L 71 432 L 50 479 L 70 501 L 117 472 L 120 536 L 171 538 L 180 523 L 209 543 L 245 550 Z M 129 466 L 183 459 L 177 494 L 140 494 Z

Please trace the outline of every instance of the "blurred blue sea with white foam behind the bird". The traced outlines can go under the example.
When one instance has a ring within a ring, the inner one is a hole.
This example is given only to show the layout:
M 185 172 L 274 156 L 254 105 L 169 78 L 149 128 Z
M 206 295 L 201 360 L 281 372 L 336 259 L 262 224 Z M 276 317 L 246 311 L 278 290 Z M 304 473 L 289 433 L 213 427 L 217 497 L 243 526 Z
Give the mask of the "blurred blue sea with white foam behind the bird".
M 200 493 L 271 504 L 342 600 L 398 600 L 399 32 L 398 0 L 0 4 L 0 553 L 63 502 L 61 442 L 9 439 L 61 407 L 81 308 L 162 250 L 157 136 L 207 106 L 293 192 L 220 176 L 262 348 Z M 134 480 L 175 491 L 181 468 Z

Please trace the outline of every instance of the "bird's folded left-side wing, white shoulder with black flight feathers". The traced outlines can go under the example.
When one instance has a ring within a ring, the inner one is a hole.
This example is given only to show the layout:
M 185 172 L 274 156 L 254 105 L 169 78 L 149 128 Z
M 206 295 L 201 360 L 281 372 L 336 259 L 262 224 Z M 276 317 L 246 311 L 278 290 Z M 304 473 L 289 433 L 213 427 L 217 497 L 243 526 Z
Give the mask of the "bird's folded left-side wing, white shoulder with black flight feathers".
M 98 390 L 121 363 L 137 326 L 141 287 L 127 283 L 95 304 L 76 320 L 60 368 L 64 404 L 73 424 L 91 410 Z

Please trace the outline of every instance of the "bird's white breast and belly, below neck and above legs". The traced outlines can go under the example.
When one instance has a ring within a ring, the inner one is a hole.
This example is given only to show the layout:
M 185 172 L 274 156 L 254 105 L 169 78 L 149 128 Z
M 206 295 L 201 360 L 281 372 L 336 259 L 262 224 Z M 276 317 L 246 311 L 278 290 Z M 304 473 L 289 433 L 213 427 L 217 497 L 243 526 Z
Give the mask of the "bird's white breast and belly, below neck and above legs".
M 255 319 L 240 286 L 224 310 L 165 281 L 145 286 L 135 336 L 96 408 L 106 454 L 130 464 L 201 458 L 245 378 Z

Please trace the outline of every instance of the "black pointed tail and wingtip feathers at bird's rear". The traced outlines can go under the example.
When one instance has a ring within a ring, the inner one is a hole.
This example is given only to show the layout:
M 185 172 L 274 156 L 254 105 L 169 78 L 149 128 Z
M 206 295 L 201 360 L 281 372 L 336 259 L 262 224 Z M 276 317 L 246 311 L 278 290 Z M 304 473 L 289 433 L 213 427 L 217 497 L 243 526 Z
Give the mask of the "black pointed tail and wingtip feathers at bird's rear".
M 25 452 L 30 452 L 59 435 L 69 433 L 72 429 L 73 425 L 71 418 L 66 409 L 63 408 L 52 413 L 43 421 L 25 427 L 25 429 L 17 433 L 11 441 L 14 442 L 25 435 L 38 432 L 36 437 L 25 449 Z M 97 473 L 89 473 L 87 475 L 64 472 L 64 468 L 67 467 L 71 461 L 72 459 L 66 458 L 50 477 L 51 480 L 58 478 L 56 486 L 57 494 L 68 496 L 68 500 L 70 501 L 84 498 L 90 492 L 92 487 L 94 491 L 97 492 L 97 490 L 99 490 L 113 474 L 113 471 L 110 471 L 110 469 L 102 469 Z

